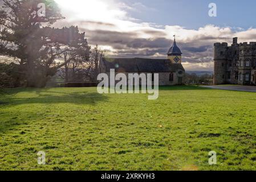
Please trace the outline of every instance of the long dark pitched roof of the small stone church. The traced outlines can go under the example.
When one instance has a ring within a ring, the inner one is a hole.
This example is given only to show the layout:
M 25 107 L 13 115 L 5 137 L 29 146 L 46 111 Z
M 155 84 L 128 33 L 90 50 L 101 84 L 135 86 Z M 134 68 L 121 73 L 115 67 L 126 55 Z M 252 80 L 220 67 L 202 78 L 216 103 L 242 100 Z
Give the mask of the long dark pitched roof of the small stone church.
M 103 57 L 103 64 L 107 71 L 115 69 L 116 72 L 176 72 L 185 71 L 182 64 L 173 64 L 168 59 L 145 58 L 107 58 Z

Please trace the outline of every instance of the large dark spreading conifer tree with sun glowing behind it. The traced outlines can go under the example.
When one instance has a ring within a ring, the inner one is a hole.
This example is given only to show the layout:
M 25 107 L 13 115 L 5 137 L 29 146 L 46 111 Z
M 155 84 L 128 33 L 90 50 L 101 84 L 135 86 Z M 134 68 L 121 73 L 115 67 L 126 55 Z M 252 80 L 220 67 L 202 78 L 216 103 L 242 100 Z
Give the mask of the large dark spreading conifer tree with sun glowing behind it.
M 2 0 L 0 54 L 19 60 L 27 86 L 43 87 L 72 60 L 87 60 L 90 47 L 78 27 L 53 28 L 63 19 L 53 0 Z M 42 4 L 43 3 L 43 4 Z M 45 12 L 42 7 L 45 6 Z M 63 55 L 68 52 L 68 59 Z

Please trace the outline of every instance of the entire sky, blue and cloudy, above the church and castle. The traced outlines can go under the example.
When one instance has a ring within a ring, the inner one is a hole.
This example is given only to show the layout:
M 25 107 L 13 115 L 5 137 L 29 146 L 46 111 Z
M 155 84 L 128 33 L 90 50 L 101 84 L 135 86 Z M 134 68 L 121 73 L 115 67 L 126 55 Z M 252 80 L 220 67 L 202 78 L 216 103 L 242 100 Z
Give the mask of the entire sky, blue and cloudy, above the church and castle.
M 246 0 L 55 0 L 66 19 L 55 27 L 79 26 L 88 43 L 110 57 L 165 59 L 176 35 L 188 71 L 213 71 L 213 44 L 256 42 L 256 1 Z M 209 16 L 209 4 L 217 16 Z

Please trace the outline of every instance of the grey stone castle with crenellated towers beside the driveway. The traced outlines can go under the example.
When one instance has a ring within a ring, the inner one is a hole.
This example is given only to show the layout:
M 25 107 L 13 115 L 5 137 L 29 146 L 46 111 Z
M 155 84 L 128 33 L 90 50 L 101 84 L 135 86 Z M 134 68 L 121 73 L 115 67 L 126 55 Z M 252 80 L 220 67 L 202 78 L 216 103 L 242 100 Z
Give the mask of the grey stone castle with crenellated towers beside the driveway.
M 256 42 L 214 44 L 214 85 L 256 85 Z

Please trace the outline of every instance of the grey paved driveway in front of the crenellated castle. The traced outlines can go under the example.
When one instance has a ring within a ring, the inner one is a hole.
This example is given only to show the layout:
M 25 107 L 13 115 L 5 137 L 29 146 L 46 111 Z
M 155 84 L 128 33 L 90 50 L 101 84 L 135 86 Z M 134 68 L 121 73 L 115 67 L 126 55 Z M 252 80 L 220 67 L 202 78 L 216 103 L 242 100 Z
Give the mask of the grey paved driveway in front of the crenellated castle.
M 256 86 L 245 86 L 245 85 L 213 85 L 213 86 L 202 86 L 204 88 L 212 88 L 219 90 L 234 90 L 243 92 L 256 92 Z

